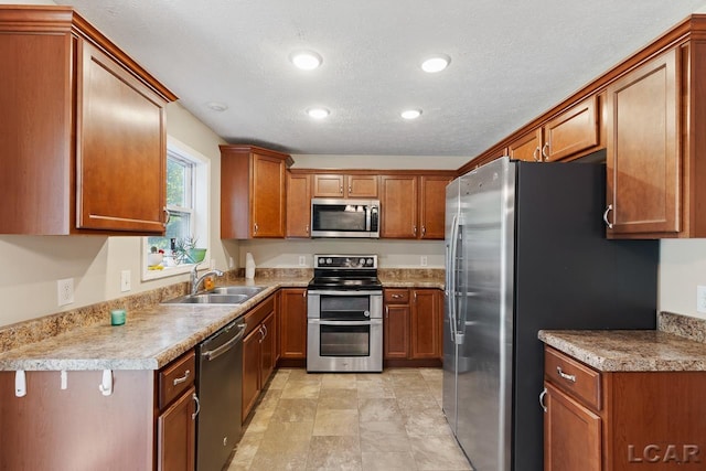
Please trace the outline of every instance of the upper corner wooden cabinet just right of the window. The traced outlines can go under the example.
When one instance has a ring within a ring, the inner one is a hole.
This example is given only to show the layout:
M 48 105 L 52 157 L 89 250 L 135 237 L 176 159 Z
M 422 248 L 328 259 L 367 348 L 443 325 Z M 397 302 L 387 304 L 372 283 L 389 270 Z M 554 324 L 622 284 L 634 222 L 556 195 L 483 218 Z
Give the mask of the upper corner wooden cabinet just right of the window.
M 221 146 L 221 238 L 285 237 L 290 162 L 255 146 Z

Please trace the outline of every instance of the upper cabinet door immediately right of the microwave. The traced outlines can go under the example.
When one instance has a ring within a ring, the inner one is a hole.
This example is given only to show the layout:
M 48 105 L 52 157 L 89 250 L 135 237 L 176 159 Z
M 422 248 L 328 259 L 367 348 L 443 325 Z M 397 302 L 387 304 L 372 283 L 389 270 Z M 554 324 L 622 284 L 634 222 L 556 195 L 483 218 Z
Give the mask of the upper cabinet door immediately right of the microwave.
M 417 238 L 417 176 L 381 176 L 381 237 Z

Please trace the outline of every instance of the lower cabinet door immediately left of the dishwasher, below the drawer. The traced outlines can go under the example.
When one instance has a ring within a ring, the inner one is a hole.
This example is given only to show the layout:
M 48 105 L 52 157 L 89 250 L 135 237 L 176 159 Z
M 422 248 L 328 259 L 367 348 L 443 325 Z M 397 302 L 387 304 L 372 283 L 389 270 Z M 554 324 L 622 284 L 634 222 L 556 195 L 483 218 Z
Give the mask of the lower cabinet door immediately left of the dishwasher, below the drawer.
M 195 467 L 195 396 L 192 386 L 157 419 L 159 471 L 191 471 Z

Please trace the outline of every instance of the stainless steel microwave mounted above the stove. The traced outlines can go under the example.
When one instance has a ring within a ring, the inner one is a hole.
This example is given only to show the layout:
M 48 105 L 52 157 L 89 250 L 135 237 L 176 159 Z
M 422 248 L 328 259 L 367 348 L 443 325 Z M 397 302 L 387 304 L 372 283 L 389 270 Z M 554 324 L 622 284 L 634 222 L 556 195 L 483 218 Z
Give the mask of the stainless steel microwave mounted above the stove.
M 378 200 L 311 199 L 311 237 L 379 237 Z

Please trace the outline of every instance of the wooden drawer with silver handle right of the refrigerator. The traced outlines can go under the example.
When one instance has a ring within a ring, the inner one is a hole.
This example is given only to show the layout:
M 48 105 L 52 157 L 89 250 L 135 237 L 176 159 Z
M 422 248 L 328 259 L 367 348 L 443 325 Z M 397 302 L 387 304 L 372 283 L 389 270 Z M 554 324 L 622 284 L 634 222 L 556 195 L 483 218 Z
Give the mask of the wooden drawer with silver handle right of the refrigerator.
M 544 377 L 595 410 L 600 410 L 600 373 L 546 347 L 544 350 Z

